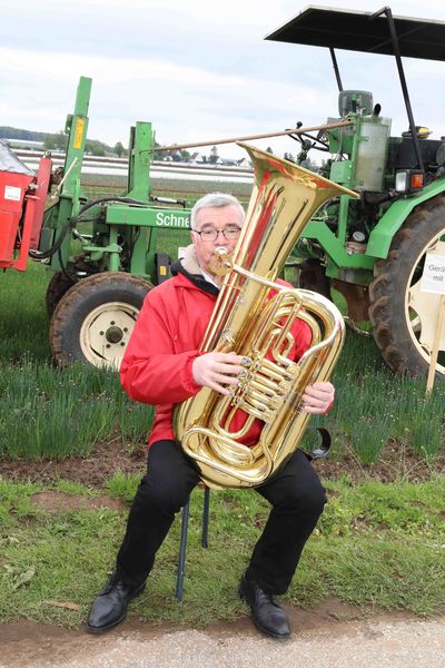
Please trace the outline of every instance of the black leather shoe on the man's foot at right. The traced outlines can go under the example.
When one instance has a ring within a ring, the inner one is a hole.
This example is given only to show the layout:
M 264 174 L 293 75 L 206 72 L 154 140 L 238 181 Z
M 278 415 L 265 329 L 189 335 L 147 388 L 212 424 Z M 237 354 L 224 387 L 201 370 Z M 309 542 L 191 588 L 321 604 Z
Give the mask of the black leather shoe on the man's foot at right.
M 289 620 L 281 606 L 270 593 L 266 593 L 244 573 L 239 583 L 239 596 L 250 606 L 254 623 L 271 638 L 286 640 L 290 636 Z

